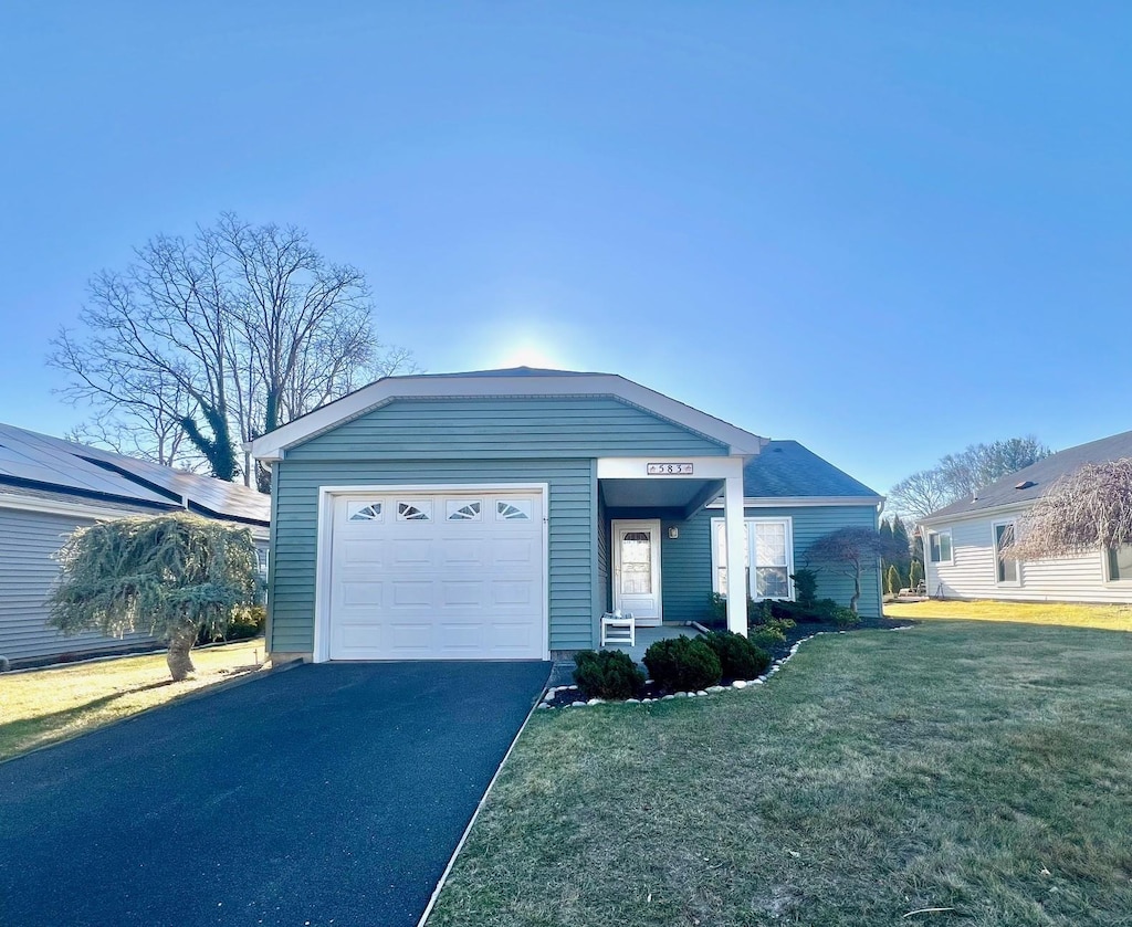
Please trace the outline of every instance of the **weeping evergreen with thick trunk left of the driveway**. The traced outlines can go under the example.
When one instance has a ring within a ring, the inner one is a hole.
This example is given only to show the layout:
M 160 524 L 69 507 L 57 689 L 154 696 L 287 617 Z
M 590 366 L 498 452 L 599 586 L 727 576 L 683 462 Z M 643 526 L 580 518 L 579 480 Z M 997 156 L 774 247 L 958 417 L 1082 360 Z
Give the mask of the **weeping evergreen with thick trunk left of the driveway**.
M 177 681 L 194 670 L 189 650 L 201 630 L 223 634 L 259 594 L 251 532 L 188 513 L 80 527 L 57 558 L 49 624 L 65 634 L 152 634 L 169 644 Z

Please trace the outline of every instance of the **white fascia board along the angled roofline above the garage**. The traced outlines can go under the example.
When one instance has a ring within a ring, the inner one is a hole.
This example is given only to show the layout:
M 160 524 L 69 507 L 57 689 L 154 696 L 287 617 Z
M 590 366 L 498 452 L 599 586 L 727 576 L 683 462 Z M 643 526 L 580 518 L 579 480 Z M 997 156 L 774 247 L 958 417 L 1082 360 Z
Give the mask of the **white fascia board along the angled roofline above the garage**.
M 301 441 L 328 431 L 337 424 L 363 415 L 394 400 L 415 398 L 565 398 L 569 396 L 614 396 L 676 424 L 697 431 L 726 445 L 731 454 L 753 456 L 766 444 L 721 419 L 641 386 L 615 374 L 567 377 L 386 377 L 357 393 L 316 409 L 301 419 L 276 428 L 251 443 L 251 454 L 260 461 L 282 460 L 283 452 Z

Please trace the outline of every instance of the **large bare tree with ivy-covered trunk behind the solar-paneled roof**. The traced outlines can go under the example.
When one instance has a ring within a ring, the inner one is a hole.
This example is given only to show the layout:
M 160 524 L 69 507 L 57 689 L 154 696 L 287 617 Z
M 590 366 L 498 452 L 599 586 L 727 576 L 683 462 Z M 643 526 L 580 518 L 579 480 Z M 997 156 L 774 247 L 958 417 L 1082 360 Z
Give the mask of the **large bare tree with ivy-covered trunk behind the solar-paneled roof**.
M 128 436 L 162 463 L 196 456 L 223 479 L 241 470 L 237 443 L 415 369 L 378 341 L 361 271 L 327 261 L 300 229 L 231 213 L 97 274 L 80 321 L 52 341 L 50 362 L 69 375 L 62 394 L 96 410 L 83 434 Z

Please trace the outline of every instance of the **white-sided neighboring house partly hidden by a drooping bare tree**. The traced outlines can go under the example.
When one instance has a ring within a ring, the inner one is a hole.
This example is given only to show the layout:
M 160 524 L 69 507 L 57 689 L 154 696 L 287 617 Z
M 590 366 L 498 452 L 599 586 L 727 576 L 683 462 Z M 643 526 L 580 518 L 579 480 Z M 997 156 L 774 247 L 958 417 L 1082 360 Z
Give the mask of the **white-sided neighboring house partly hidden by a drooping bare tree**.
M 1132 546 L 1018 563 L 998 556 L 1018 520 L 1086 463 L 1132 457 L 1132 431 L 1052 454 L 919 523 L 928 595 L 1054 602 L 1132 602 Z

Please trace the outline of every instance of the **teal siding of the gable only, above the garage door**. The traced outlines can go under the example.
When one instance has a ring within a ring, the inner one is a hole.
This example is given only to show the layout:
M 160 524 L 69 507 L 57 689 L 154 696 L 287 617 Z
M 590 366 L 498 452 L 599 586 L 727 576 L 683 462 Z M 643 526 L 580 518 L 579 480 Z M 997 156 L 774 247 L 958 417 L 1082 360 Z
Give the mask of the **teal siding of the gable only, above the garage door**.
M 359 453 L 360 452 L 360 453 Z M 290 460 L 718 456 L 728 448 L 608 396 L 397 400 L 290 448 Z

